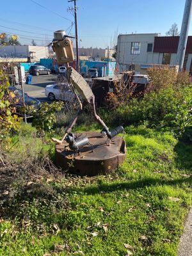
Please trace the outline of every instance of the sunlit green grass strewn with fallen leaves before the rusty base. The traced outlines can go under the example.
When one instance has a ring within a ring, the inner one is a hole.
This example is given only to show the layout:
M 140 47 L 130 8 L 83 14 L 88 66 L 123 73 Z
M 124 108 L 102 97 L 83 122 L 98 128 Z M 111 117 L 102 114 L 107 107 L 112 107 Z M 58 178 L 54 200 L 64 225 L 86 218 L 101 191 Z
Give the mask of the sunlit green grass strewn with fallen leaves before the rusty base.
M 125 131 L 127 158 L 111 175 L 15 180 L 0 255 L 177 255 L 192 146 L 144 125 Z

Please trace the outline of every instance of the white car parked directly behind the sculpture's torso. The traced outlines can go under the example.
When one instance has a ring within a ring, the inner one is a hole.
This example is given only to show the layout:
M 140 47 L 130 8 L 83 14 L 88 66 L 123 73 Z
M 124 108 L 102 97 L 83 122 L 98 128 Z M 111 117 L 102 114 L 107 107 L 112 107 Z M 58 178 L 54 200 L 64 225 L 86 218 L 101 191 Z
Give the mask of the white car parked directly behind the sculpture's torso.
M 45 87 L 45 95 L 50 100 L 65 100 L 72 102 L 75 99 L 74 93 L 68 84 L 49 84 Z

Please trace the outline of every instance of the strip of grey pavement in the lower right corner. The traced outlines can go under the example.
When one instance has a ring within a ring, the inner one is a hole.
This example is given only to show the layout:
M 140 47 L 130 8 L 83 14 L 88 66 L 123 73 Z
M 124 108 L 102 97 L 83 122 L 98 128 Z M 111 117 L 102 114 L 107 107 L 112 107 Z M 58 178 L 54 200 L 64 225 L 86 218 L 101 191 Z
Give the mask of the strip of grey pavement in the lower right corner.
M 184 233 L 180 237 L 178 256 L 192 256 L 192 208 L 185 223 Z

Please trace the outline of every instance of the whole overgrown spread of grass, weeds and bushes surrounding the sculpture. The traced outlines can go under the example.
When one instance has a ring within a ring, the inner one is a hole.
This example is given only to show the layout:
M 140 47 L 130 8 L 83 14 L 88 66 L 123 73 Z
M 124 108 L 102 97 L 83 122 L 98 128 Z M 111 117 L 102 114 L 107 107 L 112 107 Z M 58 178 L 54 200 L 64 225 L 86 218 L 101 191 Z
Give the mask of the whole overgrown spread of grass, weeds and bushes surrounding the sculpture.
M 192 198 L 192 88 L 179 76 L 162 86 L 156 77 L 139 99 L 119 88 L 116 108 L 100 111 L 108 125 L 125 127 L 127 157 L 110 175 L 78 177 L 54 165 L 51 137 L 75 110 L 60 102 L 43 104 L 33 126 L 4 132 L 0 255 L 176 256 Z M 100 128 L 86 114 L 74 131 Z

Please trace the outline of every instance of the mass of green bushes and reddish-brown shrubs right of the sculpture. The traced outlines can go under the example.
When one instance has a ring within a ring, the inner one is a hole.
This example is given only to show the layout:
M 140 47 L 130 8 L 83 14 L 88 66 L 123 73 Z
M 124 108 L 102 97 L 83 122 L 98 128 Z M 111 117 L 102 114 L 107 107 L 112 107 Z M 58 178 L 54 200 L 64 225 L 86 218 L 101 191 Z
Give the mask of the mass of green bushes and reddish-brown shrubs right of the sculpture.
M 175 69 L 154 67 L 148 70 L 152 83 L 142 97 L 132 97 L 135 87 L 118 84 L 117 93 L 109 93 L 109 116 L 113 124 L 147 124 L 148 127 L 166 129 L 179 135 L 192 125 L 192 86 L 189 74 L 177 74 Z M 124 83 L 123 83 L 124 84 Z M 116 105 L 116 106 L 115 106 Z M 111 115 L 111 108 L 113 115 Z M 106 115 L 106 111 L 104 111 Z

